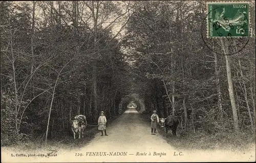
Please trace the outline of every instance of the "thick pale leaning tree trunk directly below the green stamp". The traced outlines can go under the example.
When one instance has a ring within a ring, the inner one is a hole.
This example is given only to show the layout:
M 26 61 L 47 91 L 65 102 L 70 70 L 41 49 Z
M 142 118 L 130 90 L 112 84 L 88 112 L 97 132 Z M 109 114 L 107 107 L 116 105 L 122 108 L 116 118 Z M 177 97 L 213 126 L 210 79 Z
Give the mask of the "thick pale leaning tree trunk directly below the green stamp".
M 233 120 L 234 120 L 234 130 L 236 132 L 239 132 L 239 125 L 238 125 L 238 114 L 237 114 L 237 108 L 236 108 L 236 102 L 234 100 L 234 94 L 233 94 L 233 84 L 232 84 L 232 76 L 231 76 L 231 68 L 230 68 L 230 58 L 228 55 L 228 42 L 226 40 L 221 40 L 222 49 L 225 55 L 226 59 L 226 71 L 227 71 L 227 80 L 228 80 L 228 91 L 229 91 L 229 98 L 231 102 L 232 112 L 233 112 Z

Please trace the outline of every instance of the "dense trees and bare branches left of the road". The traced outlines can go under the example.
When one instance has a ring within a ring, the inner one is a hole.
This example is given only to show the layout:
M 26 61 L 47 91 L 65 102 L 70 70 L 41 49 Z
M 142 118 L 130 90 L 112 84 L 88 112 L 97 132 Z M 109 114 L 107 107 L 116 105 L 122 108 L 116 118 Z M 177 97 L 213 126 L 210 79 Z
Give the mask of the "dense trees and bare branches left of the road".
M 114 22 L 102 27 L 108 16 L 124 15 L 118 7 L 112 2 L 1 2 L 2 145 L 22 134 L 67 134 L 77 114 L 85 114 L 92 125 L 101 110 L 108 119 L 118 114 L 127 94 L 127 63 L 111 32 Z M 96 10 L 99 15 L 92 18 Z

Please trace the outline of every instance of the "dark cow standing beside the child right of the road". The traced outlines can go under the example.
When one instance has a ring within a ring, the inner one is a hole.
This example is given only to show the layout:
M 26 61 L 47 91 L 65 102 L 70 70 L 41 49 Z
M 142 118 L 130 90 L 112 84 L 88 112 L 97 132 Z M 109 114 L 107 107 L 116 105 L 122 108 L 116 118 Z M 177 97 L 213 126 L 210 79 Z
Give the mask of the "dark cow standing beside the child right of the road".
M 159 120 L 159 125 L 160 125 L 161 128 L 165 127 L 166 137 L 167 137 L 168 129 L 173 131 L 174 136 L 177 136 L 176 135 L 176 130 L 177 130 L 177 127 L 179 125 L 178 117 L 170 115 L 165 119 L 161 118 Z

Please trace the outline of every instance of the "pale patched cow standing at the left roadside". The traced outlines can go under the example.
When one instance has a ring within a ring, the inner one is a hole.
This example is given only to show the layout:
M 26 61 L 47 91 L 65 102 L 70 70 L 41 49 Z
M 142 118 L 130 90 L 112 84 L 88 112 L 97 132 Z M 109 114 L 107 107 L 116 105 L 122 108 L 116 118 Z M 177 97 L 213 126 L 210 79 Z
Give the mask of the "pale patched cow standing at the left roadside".
M 76 134 L 78 134 L 78 138 L 81 138 L 81 134 L 83 137 L 83 132 L 86 126 L 87 126 L 86 116 L 76 115 L 75 120 L 71 122 L 71 129 L 73 131 L 74 139 L 76 139 Z

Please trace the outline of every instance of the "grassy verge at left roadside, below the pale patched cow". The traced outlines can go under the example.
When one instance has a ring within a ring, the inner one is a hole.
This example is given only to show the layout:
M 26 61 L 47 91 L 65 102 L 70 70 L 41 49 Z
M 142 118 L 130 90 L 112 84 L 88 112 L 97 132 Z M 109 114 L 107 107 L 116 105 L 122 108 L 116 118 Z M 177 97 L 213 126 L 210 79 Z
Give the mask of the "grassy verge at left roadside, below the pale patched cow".
M 108 120 L 109 125 L 120 115 L 116 115 Z M 67 130 L 63 131 L 62 135 L 55 135 L 54 138 L 49 138 L 45 143 L 45 135 L 37 138 L 26 139 L 25 141 L 4 146 L 2 148 L 9 149 L 14 152 L 26 151 L 49 151 L 49 150 L 77 150 L 89 144 L 95 135 L 99 133 L 98 127 L 87 126 L 83 138 L 73 138 L 73 135 Z

